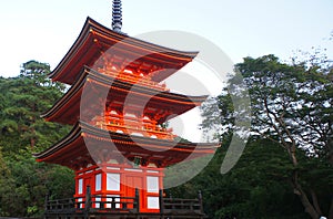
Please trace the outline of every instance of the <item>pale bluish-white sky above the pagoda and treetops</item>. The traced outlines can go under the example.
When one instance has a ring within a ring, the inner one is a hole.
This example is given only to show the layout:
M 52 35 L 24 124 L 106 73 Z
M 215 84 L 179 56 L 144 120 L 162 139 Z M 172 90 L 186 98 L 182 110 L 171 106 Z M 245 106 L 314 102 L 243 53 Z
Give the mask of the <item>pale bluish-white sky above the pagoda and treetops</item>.
M 0 75 L 16 76 L 30 60 L 54 69 L 89 15 L 110 27 L 112 0 L 10 0 L 0 7 Z M 322 45 L 333 53 L 332 0 L 123 0 L 123 31 L 199 34 L 233 62 Z M 195 50 L 195 48 L 193 48 Z

